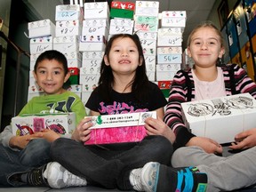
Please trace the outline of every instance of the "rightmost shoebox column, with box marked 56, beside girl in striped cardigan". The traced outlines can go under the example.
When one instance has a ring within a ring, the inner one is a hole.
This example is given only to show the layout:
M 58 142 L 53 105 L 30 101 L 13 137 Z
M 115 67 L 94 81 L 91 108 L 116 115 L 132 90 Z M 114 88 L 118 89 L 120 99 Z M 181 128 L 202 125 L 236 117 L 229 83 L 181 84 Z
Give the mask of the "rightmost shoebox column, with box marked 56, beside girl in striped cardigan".
M 181 69 L 182 33 L 186 25 L 185 11 L 164 11 L 161 13 L 161 28 L 157 34 L 156 82 L 158 85 L 172 84 L 173 76 Z M 160 86 L 165 98 L 169 88 Z

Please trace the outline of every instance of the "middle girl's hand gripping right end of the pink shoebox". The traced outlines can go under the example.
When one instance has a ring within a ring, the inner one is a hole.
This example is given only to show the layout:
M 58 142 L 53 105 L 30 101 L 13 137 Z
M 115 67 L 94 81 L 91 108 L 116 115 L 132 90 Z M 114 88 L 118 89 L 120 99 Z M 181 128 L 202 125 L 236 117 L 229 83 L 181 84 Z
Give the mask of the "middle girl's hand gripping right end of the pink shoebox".
M 145 120 L 145 128 L 147 129 L 148 135 L 162 135 L 172 143 L 175 141 L 176 136 L 172 129 L 167 124 L 164 124 L 164 121 L 160 118 L 148 117 Z

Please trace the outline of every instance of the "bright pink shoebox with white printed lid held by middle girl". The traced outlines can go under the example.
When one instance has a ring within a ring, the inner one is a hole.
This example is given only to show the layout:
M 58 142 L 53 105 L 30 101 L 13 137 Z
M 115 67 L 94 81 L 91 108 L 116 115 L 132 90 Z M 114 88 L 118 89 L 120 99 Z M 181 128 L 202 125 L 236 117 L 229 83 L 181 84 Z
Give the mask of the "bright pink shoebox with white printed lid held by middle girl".
M 144 121 L 149 116 L 156 118 L 156 111 L 92 116 L 91 138 L 84 144 L 109 144 L 143 140 L 147 136 Z

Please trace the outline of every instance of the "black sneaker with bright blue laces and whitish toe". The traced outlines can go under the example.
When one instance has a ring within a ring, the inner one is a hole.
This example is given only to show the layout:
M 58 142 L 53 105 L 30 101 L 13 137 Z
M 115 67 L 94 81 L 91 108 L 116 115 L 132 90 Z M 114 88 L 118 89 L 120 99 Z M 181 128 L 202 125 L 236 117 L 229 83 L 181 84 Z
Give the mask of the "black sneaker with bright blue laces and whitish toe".
M 204 192 L 207 187 L 207 175 L 196 167 L 174 169 L 155 162 L 144 165 L 140 180 L 146 192 Z

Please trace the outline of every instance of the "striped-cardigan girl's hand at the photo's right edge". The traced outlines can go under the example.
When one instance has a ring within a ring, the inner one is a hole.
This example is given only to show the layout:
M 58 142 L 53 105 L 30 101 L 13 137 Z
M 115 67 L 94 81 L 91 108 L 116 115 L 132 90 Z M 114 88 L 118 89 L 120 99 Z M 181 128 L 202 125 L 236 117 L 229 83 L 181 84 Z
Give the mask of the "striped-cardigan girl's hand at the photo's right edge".
M 231 149 L 245 149 L 256 146 L 256 128 L 240 132 L 235 136 L 235 141 L 229 146 Z

